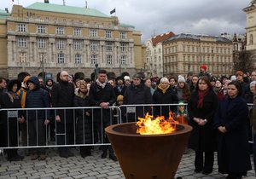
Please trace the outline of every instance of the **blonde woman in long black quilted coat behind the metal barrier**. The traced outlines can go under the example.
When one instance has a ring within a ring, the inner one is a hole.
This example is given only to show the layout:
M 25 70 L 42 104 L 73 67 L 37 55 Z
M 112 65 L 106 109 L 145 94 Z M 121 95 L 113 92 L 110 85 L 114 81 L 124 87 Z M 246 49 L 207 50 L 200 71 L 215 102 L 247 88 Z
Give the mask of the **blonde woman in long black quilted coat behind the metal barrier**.
M 84 81 L 79 81 L 79 90 L 75 92 L 74 107 L 89 107 L 88 89 Z M 78 144 L 90 144 L 92 142 L 92 123 L 90 109 L 76 110 L 76 140 Z M 84 158 L 90 156 L 90 147 L 80 147 L 80 154 Z

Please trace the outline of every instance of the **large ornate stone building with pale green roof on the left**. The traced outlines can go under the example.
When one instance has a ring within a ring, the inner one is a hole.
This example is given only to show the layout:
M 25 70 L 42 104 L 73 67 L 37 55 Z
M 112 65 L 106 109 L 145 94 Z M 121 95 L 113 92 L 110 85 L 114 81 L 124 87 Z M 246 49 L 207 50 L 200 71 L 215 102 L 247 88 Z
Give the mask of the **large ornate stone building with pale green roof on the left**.
M 0 65 L 7 64 L 9 78 L 19 72 L 55 76 L 61 70 L 90 77 L 96 66 L 117 75 L 143 68 L 141 32 L 96 9 L 51 3 L 14 5 L 6 27 L 2 28 L 2 21 L 0 26 L 0 45 L 7 42 L 8 47 L 1 48 L 7 55 L 1 54 Z M 7 38 L 2 39 L 2 34 Z

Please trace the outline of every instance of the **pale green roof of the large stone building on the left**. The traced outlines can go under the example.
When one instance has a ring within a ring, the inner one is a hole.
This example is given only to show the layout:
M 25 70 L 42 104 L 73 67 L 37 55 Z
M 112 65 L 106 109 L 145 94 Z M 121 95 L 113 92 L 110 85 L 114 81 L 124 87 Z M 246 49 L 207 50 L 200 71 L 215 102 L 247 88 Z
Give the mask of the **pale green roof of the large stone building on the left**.
M 26 9 L 32 10 L 41 10 L 55 13 L 64 13 L 64 14 L 79 14 L 86 16 L 95 16 L 95 17 L 110 17 L 107 14 L 103 14 L 102 12 L 96 9 L 88 9 L 88 8 L 79 8 L 74 6 L 64 6 L 60 4 L 53 3 L 32 3 L 26 7 Z

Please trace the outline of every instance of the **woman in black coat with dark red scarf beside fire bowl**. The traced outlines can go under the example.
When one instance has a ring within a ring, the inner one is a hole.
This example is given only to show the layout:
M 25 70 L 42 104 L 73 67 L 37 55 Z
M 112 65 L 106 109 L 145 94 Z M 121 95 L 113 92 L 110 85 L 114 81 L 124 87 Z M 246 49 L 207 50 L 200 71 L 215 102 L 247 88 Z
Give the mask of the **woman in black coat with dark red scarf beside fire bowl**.
M 199 78 L 195 92 L 188 103 L 189 125 L 193 127 L 189 147 L 195 150 L 196 173 L 203 170 L 202 173 L 207 175 L 212 172 L 215 148 L 213 115 L 217 107 L 218 97 L 212 90 L 209 78 L 205 76 Z

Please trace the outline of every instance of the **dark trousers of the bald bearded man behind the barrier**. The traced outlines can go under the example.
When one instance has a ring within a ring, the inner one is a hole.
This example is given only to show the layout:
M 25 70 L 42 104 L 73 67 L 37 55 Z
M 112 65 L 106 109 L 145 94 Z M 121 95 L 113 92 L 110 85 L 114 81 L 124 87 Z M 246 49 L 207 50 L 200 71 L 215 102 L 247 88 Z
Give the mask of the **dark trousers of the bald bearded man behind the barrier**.
M 70 145 L 75 143 L 73 123 L 64 124 L 63 122 L 56 123 L 56 138 L 57 145 Z M 67 147 L 58 147 L 59 151 L 67 152 Z

